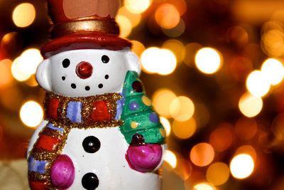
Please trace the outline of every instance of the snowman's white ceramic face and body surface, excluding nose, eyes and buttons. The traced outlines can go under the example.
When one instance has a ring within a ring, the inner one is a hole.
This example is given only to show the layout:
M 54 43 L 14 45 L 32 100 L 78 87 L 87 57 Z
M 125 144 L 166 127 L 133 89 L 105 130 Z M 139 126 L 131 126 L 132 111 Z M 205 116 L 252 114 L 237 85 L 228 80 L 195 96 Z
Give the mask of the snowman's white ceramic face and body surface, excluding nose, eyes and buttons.
M 109 56 L 109 63 L 102 63 L 103 55 Z M 67 68 L 62 66 L 62 60 L 65 58 L 70 60 Z M 75 73 L 76 65 L 81 61 L 87 61 L 93 67 L 93 73 L 87 79 L 79 78 Z M 38 67 L 36 78 L 39 85 L 47 91 L 68 97 L 86 97 L 104 93 L 121 93 L 128 70 L 135 70 L 137 73 L 141 71 L 138 57 L 129 50 L 75 50 L 62 52 L 43 60 Z M 104 78 L 105 75 L 109 75 L 107 80 Z M 62 76 L 65 80 L 62 80 Z M 71 88 L 72 83 L 76 84 L 75 89 Z M 98 88 L 98 84 L 101 83 L 104 87 Z M 87 85 L 90 90 L 85 90 Z M 35 130 L 28 152 L 38 139 L 38 133 L 47 123 L 47 120 L 43 120 Z M 82 142 L 88 136 L 95 136 L 101 142 L 98 152 L 84 151 Z M 129 167 L 125 157 L 128 147 L 129 144 L 119 131 L 119 127 L 72 129 L 62 149 L 62 154 L 67 154 L 75 167 L 75 180 L 69 189 L 84 189 L 81 183 L 82 176 L 88 172 L 98 176 L 98 190 L 160 189 L 158 174 L 141 173 Z M 162 147 L 164 151 L 165 146 Z

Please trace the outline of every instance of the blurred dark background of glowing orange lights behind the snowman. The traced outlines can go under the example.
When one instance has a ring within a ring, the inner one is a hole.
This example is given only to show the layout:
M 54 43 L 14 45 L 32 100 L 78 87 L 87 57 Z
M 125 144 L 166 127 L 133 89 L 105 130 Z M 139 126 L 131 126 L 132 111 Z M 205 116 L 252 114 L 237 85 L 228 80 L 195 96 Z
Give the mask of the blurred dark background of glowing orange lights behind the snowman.
M 284 1 L 121 5 L 121 36 L 166 129 L 163 189 L 284 189 Z M 28 189 L 50 23 L 43 0 L 0 0 L 0 18 L 0 189 Z

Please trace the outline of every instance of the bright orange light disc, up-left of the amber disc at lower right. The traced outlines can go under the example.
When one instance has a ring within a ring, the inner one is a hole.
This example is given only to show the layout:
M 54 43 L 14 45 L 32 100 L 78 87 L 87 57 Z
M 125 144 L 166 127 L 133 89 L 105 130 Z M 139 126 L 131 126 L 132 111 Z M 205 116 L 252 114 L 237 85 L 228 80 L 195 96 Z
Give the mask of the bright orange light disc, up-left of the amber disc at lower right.
M 195 144 L 190 151 L 190 160 L 198 167 L 205 167 L 214 159 L 214 149 L 211 144 L 199 143 Z

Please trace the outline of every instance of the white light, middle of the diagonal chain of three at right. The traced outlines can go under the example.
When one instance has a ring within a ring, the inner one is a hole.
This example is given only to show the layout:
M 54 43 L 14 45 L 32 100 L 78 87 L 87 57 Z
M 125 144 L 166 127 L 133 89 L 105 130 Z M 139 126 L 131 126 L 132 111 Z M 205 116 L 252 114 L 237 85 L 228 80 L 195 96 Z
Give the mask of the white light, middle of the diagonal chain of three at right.
M 271 85 L 261 70 L 254 70 L 246 79 L 246 88 L 252 95 L 262 97 L 268 93 Z

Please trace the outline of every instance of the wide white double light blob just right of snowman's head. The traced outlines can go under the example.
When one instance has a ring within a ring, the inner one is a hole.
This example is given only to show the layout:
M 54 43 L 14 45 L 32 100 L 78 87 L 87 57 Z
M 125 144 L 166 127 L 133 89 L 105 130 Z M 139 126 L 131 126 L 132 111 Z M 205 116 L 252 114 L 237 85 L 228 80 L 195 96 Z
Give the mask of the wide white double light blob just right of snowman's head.
M 147 48 L 141 55 L 143 70 L 147 73 L 169 75 L 177 66 L 175 54 L 167 49 Z

